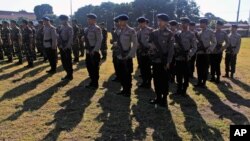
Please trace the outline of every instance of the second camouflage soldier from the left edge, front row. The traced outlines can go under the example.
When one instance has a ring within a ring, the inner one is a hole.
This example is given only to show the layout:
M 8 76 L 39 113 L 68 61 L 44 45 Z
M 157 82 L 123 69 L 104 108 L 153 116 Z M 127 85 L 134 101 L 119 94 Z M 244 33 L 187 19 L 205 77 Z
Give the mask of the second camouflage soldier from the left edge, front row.
M 17 27 L 16 21 L 11 21 L 11 39 L 12 45 L 15 49 L 15 53 L 18 56 L 18 64 L 23 63 L 23 54 L 22 54 L 22 33 L 21 29 Z

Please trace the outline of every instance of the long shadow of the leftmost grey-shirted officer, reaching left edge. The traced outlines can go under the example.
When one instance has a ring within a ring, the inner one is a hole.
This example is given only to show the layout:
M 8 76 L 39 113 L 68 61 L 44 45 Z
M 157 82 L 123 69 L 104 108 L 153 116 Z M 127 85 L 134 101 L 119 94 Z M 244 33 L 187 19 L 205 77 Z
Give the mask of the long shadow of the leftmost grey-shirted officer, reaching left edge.
M 61 67 L 59 67 L 59 68 L 61 68 Z M 62 71 L 62 69 L 58 69 L 58 70 Z M 36 74 L 39 71 L 40 71 L 40 68 L 36 68 L 36 69 L 33 70 L 33 72 L 31 71 L 29 73 Z M 58 71 L 58 72 L 60 72 L 60 71 Z M 21 84 L 21 85 L 15 87 L 15 88 L 5 92 L 4 95 L 0 98 L 0 102 L 2 102 L 4 100 L 7 100 L 7 99 L 17 98 L 17 97 L 19 97 L 19 96 L 21 96 L 23 94 L 28 93 L 29 91 L 32 91 L 39 84 L 43 83 L 44 81 L 46 81 L 51 76 L 52 75 L 50 75 L 50 74 L 44 74 L 41 77 L 36 78 L 35 80 L 32 80 L 31 82 Z

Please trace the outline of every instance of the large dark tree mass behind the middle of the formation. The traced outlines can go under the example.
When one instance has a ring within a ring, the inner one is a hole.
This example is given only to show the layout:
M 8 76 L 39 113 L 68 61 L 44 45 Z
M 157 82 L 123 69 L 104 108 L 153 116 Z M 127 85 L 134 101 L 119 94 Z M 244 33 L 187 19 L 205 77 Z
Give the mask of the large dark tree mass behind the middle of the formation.
M 100 6 L 87 5 L 79 8 L 74 18 L 86 26 L 86 14 L 93 12 L 98 15 L 98 22 L 107 23 L 110 30 L 113 26 L 113 18 L 122 13 L 129 15 L 131 26 L 137 25 L 136 18 L 139 16 L 147 17 L 152 23 L 153 9 L 157 11 L 154 14 L 167 13 L 170 19 L 179 20 L 182 16 L 187 16 L 196 22 L 199 19 L 199 7 L 194 0 L 135 0 L 121 4 L 104 2 Z

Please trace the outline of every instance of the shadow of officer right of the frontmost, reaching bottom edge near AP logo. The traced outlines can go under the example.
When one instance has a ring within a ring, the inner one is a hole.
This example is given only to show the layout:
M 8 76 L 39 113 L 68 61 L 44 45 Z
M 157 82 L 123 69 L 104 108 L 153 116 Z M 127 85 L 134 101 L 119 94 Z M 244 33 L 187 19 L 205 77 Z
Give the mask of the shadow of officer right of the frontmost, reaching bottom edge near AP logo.
M 190 96 L 172 94 L 170 97 L 173 103 L 180 105 L 185 118 L 184 126 L 192 134 L 191 140 L 223 141 L 220 131 L 206 123 L 197 109 L 197 104 Z

